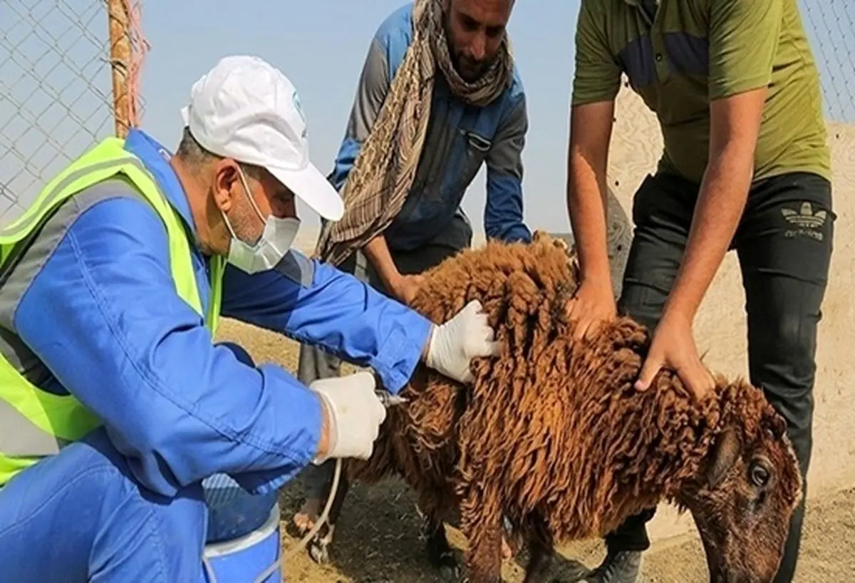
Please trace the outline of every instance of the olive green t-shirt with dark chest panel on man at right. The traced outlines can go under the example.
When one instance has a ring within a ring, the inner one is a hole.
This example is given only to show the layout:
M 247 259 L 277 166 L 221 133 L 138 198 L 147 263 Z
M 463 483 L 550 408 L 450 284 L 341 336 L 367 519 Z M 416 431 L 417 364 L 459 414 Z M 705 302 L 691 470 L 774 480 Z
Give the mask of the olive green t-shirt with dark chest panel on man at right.
M 831 180 L 819 73 L 797 0 L 581 0 L 574 105 L 610 101 L 621 74 L 662 127 L 660 171 L 700 182 L 710 102 L 768 86 L 755 180 Z M 658 7 L 656 6 L 658 4 Z

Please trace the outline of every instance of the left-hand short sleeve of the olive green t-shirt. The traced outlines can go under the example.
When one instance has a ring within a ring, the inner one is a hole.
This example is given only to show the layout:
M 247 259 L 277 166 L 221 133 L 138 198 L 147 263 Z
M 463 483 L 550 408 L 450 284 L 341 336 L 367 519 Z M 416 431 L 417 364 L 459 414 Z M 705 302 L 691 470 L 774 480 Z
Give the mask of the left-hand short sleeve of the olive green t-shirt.
M 581 0 L 575 32 L 573 105 L 611 101 L 621 89 L 621 66 L 610 50 L 602 0 Z

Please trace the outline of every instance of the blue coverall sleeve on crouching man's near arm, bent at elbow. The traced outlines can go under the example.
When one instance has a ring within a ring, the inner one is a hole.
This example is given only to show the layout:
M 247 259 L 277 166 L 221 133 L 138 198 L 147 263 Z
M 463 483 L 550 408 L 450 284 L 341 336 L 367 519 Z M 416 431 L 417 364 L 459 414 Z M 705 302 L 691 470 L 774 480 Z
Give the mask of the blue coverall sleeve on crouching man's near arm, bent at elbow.
M 146 203 L 97 203 L 27 285 L 15 331 L 150 490 L 174 496 L 219 472 L 256 491 L 280 486 L 316 454 L 319 399 L 284 369 L 215 346 L 168 266 Z

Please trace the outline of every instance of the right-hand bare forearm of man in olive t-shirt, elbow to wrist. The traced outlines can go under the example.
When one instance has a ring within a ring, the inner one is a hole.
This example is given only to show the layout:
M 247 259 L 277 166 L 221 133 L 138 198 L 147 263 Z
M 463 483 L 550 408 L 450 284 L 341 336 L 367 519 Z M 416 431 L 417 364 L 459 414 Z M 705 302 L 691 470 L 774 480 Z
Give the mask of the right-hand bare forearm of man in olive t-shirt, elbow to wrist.
M 666 313 L 693 321 L 739 226 L 753 164 L 753 152 L 735 146 L 711 159 Z

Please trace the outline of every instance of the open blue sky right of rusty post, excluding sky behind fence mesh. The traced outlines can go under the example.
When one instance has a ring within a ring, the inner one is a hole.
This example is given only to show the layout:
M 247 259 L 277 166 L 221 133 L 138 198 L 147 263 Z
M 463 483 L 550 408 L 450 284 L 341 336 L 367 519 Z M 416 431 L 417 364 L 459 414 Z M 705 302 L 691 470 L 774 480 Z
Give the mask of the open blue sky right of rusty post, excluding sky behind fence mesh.
M 144 5 L 144 26 L 152 45 L 144 70 L 145 127 L 174 144 L 180 135 L 179 109 L 192 82 L 221 56 L 257 54 L 297 86 L 309 120 L 312 159 L 327 173 L 345 131 L 369 42 L 386 15 L 403 3 L 245 0 L 239 11 L 214 12 L 209 2 L 183 0 L 173 4 L 176 9 L 180 6 L 173 12 L 164 2 L 149 0 Z M 563 210 L 563 175 L 573 74 L 571 31 L 577 6 L 575 0 L 524 0 L 517 3 L 510 21 L 511 42 L 528 91 L 531 126 L 523 159 L 526 215 L 533 226 L 560 230 L 569 228 Z M 265 9 L 266 16 L 260 18 Z M 200 18 L 205 12 L 209 14 Z M 183 23 L 194 19 L 197 25 L 188 38 Z M 215 29 L 226 33 L 215 34 Z M 483 174 L 463 203 L 479 229 L 485 197 Z M 304 221 L 316 224 L 311 211 L 301 215 Z

